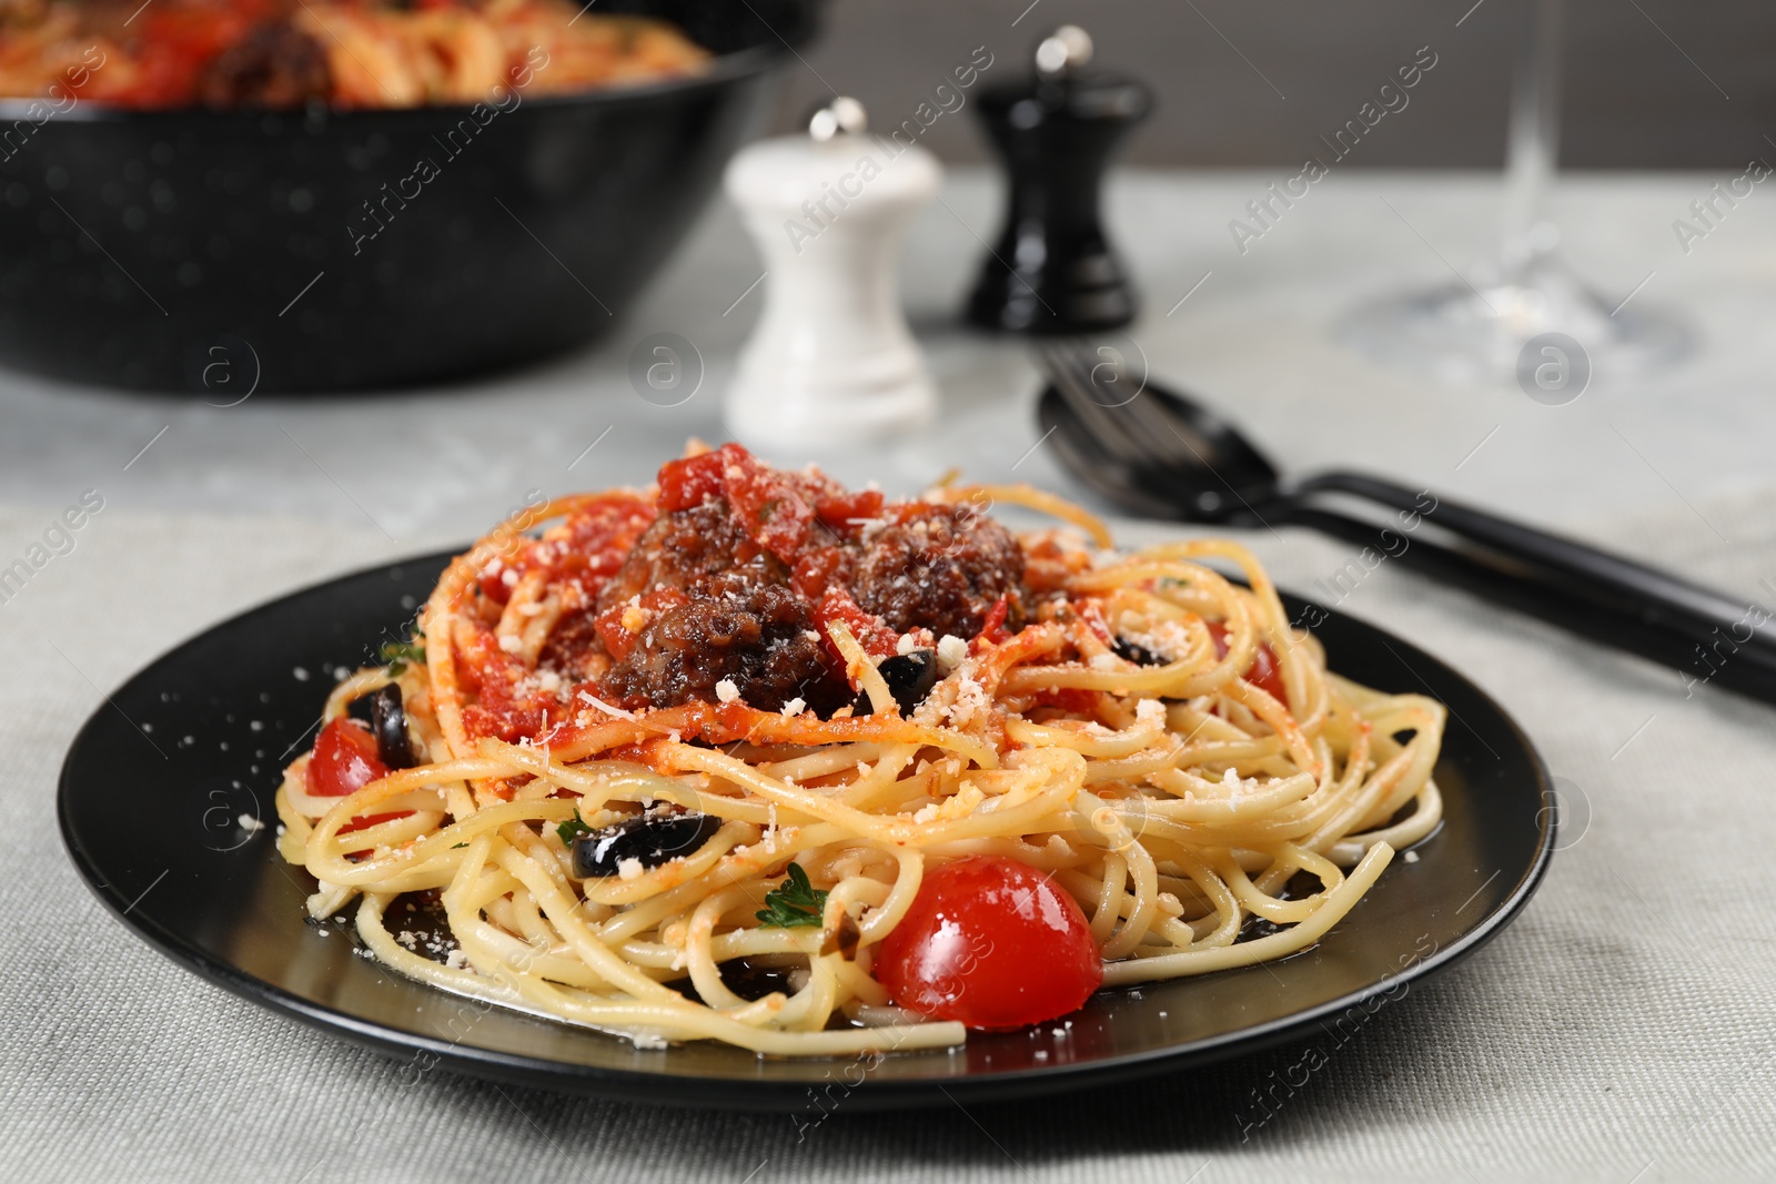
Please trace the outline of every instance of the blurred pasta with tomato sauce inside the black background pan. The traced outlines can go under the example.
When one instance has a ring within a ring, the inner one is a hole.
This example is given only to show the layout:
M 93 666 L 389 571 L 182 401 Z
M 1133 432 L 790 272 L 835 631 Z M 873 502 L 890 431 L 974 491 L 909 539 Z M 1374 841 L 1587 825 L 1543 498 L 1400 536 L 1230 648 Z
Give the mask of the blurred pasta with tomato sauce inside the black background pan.
M 666 21 L 567 0 L 0 0 L 0 96 L 119 107 L 476 103 L 707 59 Z

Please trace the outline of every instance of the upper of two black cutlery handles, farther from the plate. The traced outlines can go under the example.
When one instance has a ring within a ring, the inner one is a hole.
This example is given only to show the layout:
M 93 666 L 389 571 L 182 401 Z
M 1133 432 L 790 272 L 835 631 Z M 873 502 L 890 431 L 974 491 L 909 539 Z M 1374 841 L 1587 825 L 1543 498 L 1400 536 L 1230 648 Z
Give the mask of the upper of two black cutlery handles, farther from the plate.
M 1703 650 L 1701 655 L 1693 655 L 1698 667 L 1709 660 L 1709 651 L 1724 655 L 1756 650 L 1776 660 L 1776 621 L 1771 609 L 1733 600 L 1634 559 L 1359 472 L 1325 472 L 1293 485 L 1289 492 L 1293 497 L 1348 493 L 1394 511 L 1415 513 L 1487 549 L 1497 563 L 1534 573 L 1543 586 L 1558 588 L 1566 598 L 1611 609 L 1650 630 L 1684 637 L 1689 646 Z

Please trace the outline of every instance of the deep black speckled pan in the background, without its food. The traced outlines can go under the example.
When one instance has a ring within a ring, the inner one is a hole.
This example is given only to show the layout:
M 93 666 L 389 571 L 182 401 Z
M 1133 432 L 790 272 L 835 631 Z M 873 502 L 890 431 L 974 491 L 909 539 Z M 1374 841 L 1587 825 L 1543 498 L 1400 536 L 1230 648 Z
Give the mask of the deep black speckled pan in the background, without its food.
M 227 407 L 599 337 L 767 114 L 819 0 L 599 11 L 666 18 L 718 57 L 659 83 L 519 91 L 497 115 L 80 101 L 46 119 L 0 98 L 0 362 Z

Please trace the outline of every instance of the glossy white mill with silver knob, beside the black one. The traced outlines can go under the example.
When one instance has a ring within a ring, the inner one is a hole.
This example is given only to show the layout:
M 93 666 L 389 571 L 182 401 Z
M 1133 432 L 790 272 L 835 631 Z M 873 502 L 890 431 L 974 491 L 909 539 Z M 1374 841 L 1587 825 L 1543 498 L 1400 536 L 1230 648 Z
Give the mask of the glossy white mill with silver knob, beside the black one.
M 931 422 L 938 392 L 900 312 L 908 222 L 943 167 L 916 144 L 867 138 L 838 98 L 808 135 L 764 140 L 728 165 L 726 192 L 765 259 L 765 307 L 726 396 L 735 438 L 812 451 Z

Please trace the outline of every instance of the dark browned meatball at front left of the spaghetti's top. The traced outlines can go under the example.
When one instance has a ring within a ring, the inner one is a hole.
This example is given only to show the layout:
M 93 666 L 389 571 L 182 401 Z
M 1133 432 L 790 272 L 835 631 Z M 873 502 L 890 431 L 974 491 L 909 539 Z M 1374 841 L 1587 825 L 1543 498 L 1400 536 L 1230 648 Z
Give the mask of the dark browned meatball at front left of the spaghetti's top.
M 774 579 L 764 556 L 700 577 L 686 593 L 604 676 L 609 699 L 629 708 L 714 703 L 723 680 L 748 706 L 771 712 L 803 699 L 824 715 L 851 698 L 806 602 Z

